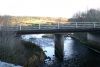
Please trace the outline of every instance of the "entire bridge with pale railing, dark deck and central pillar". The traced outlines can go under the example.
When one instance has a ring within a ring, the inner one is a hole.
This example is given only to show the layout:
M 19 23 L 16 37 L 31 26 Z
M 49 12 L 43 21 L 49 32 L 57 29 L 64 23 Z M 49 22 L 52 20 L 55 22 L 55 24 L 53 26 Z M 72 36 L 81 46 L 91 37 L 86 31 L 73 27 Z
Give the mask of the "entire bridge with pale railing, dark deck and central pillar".
M 71 22 L 67 24 L 36 24 L 33 26 L 0 26 L 0 31 L 14 31 L 16 34 L 54 34 L 55 56 L 63 60 L 64 36 L 70 32 L 100 32 L 100 22 Z

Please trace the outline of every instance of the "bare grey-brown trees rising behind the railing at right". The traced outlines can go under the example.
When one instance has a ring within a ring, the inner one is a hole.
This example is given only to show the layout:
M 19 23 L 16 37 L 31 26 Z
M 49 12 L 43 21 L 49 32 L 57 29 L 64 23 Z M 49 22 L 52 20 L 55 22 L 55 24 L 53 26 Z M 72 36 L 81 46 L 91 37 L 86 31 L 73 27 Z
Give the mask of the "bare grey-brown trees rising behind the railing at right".
M 100 10 L 90 9 L 86 12 L 78 12 L 72 18 L 71 22 L 100 22 Z

